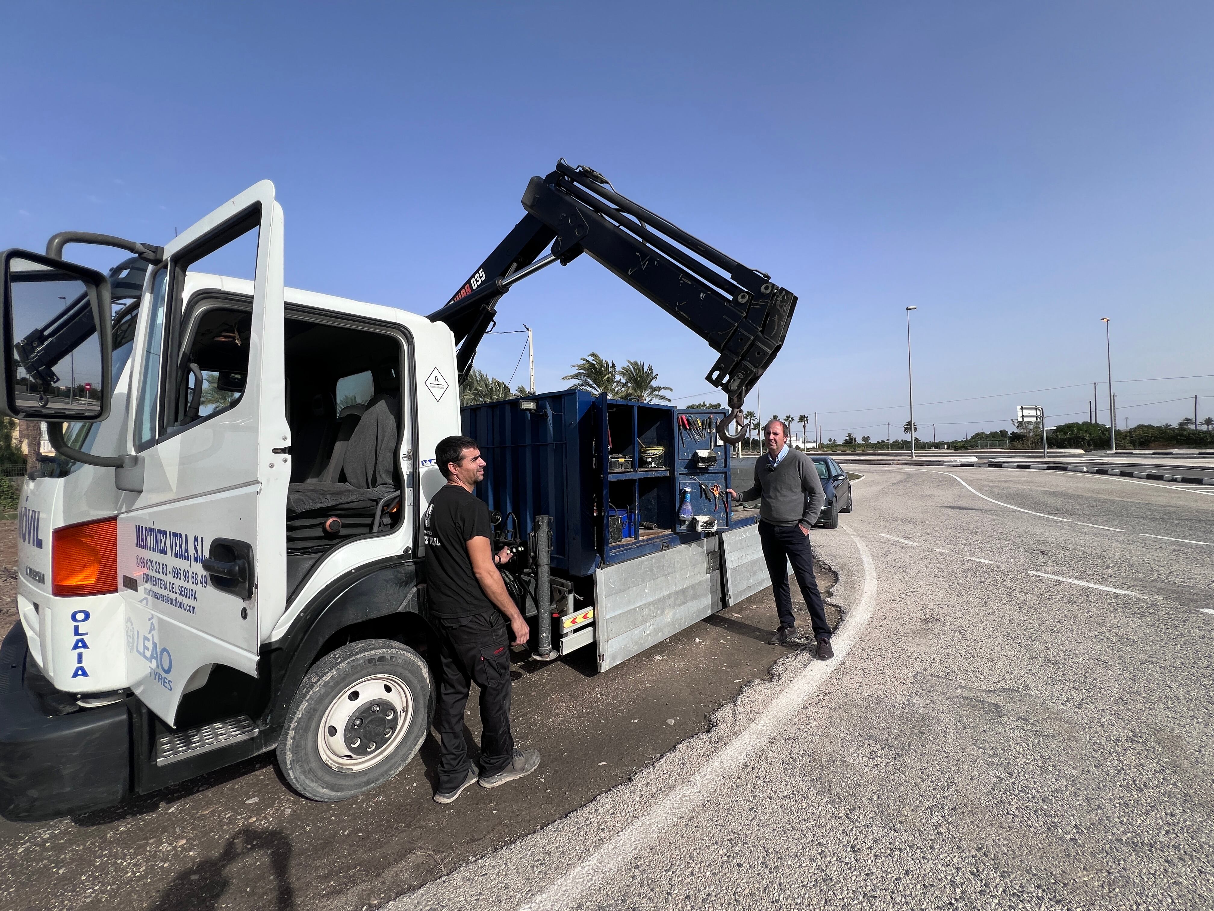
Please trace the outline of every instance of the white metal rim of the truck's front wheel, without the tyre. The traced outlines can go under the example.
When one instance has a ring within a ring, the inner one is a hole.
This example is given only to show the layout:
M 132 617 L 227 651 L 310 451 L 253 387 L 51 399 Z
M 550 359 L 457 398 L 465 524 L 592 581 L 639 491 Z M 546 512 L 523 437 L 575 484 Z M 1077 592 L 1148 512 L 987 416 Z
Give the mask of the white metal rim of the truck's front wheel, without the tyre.
M 374 674 L 351 684 L 329 703 L 317 731 L 320 759 L 337 771 L 362 771 L 384 762 L 404 740 L 413 696 L 399 678 Z

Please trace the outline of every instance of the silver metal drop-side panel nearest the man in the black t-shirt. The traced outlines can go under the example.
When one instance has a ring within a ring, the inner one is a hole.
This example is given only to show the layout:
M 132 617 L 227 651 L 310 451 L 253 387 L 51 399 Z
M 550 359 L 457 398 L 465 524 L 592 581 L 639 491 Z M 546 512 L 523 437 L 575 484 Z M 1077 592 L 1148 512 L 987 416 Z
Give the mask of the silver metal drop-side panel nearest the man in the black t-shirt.
M 713 613 L 708 550 L 716 538 L 595 571 L 599 670 L 648 649 Z

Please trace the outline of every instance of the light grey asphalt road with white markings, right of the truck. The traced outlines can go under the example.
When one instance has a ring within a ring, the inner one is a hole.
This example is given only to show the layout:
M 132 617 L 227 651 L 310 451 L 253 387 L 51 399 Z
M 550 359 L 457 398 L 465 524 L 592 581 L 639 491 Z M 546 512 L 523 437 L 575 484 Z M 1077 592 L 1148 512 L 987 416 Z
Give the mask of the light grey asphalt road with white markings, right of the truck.
M 864 470 L 839 657 L 393 911 L 1214 906 L 1214 492 Z

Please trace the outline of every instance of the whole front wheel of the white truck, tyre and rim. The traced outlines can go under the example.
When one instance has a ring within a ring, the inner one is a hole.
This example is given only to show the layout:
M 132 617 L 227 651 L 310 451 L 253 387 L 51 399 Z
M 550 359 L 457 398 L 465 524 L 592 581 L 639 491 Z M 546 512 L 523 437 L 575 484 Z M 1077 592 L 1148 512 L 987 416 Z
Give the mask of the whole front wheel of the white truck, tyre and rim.
M 403 769 L 430 730 L 435 688 L 418 652 L 364 639 L 329 652 L 300 684 L 278 765 L 313 800 L 345 800 Z

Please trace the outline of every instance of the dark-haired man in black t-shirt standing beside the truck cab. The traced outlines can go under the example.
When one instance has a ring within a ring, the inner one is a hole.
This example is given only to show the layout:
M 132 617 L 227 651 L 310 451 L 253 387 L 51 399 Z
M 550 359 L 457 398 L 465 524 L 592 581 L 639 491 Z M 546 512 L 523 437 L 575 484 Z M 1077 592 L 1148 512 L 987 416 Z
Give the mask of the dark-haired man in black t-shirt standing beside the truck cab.
M 441 679 L 435 724 L 442 739 L 435 800 L 450 803 L 480 780 L 497 787 L 539 765 L 539 751 L 515 749 L 510 732 L 510 639 L 522 645 L 527 621 L 506 592 L 498 566 L 510 549 L 493 553 L 489 508 L 472 494 L 484 477 L 476 441 L 448 436 L 435 449 L 447 485 L 425 515 L 426 592 L 438 633 Z M 505 615 L 505 616 L 503 616 Z M 471 681 L 481 688 L 481 769 L 464 743 L 464 708 Z

